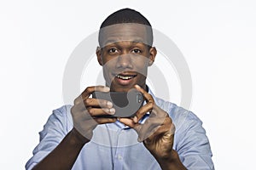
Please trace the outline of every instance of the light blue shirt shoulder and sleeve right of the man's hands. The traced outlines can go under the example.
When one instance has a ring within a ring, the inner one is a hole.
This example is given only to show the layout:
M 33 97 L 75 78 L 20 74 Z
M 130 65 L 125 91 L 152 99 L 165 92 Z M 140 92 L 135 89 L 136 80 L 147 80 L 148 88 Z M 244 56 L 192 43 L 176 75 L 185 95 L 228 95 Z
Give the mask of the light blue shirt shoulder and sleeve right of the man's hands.
M 176 127 L 173 149 L 183 164 L 188 169 L 214 169 L 210 143 L 198 116 L 163 99 L 154 100 L 172 118 Z

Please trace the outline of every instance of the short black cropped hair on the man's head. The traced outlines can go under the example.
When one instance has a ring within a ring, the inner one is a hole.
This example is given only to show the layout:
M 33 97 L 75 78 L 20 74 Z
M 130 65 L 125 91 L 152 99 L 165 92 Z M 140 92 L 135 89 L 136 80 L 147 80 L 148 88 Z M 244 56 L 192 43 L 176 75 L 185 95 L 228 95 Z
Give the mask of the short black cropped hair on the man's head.
M 104 27 L 107 26 L 113 26 L 115 24 L 124 24 L 124 23 L 134 23 L 134 24 L 142 24 L 147 26 L 147 36 L 148 36 L 148 46 L 152 46 L 153 44 L 153 31 L 152 31 L 152 26 L 150 22 L 146 19 L 146 17 L 143 16 L 143 14 L 137 12 L 134 9 L 131 8 L 122 8 L 119 9 L 118 11 L 114 12 L 113 14 L 110 14 L 103 22 L 101 25 L 101 29 L 99 32 L 99 43 L 101 44 L 101 38 L 100 34 L 102 33 L 101 30 Z

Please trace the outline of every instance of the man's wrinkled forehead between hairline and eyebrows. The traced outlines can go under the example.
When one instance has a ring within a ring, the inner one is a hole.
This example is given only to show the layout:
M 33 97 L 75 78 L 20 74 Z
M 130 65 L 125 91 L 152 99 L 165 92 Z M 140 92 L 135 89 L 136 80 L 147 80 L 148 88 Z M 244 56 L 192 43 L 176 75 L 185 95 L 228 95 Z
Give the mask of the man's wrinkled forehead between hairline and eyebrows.
M 107 26 L 101 29 L 99 39 L 102 47 L 113 42 L 143 42 L 149 44 L 149 26 L 125 23 Z

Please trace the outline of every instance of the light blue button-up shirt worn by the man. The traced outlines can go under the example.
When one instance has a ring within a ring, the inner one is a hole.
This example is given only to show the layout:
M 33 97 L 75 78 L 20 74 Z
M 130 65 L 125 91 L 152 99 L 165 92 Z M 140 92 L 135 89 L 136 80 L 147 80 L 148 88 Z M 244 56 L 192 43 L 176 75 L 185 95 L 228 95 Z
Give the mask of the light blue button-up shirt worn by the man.
M 172 118 L 176 131 L 173 149 L 183 165 L 188 169 L 214 169 L 212 151 L 201 120 L 191 111 L 175 104 L 156 98 L 149 89 L 156 105 L 160 106 Z M 27 161 L 26 169 L 32 169 L 44 156 L 60 144 L 61 140 L 73 128 L 72 105 L 64 105 L 53 111 L 40 134 L 40 143 L 33 150 L 32 158 Z M 142 122 L 148 118 L 143 117 Z M 83 149 L 73 165 L 73 170 L 118 169 L 142 170 L 160 169 L 154 156 L 137 142 L 137 133 L 121 122 L 98 125 L 89 143 Z

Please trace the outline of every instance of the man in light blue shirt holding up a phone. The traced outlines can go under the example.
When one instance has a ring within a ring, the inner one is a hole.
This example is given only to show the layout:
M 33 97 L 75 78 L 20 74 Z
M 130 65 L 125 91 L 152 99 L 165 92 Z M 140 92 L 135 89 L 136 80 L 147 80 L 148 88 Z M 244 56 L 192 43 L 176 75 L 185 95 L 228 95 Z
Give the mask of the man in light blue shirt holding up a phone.
M 201 121 L 156 98 L 146 85 L 157 54 L 152 43 L 151 25 L 142 14 L 124 8 L 109 15 L 96 50 L 106 87 L 85 88 L 73 106 L 49 116 L 26 169 L 214 169 Z M 134 88 L 145 102 L 131 118 L 109 117 L 113 103 L 90 97 Z

